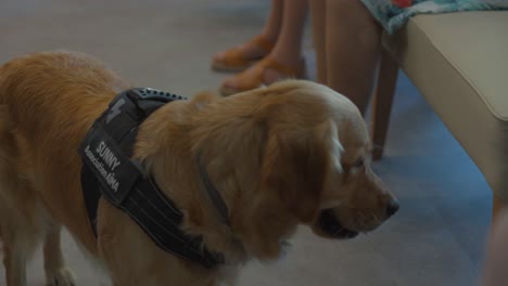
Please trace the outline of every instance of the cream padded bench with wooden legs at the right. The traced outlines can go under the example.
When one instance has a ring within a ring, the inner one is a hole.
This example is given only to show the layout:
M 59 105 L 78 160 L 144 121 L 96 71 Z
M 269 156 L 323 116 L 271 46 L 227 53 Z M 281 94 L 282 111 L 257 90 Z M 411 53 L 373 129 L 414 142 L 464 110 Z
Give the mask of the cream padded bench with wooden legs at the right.
M 383 155 L 399 68 L 485 177 L 495 216 L 508 205 L 508 11 L 418 15 L 383 35 L 374 159 Z

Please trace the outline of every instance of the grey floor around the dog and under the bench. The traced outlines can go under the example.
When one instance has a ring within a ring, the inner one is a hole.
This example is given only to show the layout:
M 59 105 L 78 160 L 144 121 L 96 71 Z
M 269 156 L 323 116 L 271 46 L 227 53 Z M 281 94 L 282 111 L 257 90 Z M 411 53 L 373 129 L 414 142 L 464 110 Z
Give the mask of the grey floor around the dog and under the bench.
M 191 95 L 218 86 L 225 76 L 209 70 L 211 55 L 255 35 L 268 8 L 268 0 L 3 0 L 0 62 L 77 50 L 102 58 L 135 86 Z M 307 37 L 312 55 L 309 42 Z M 475 285 L 491 191 L 406 78 L 385 158 L 374 168 L 401 200 L 389 223 L 341 243 L 301 230 L 285 259 L 249 265 L 240 285 Z M 64 242 L 79 285 L 99 285 L 103 278 L 68 236 Z M 29 285 L 43 285 L 40 256 L 29 266 Z

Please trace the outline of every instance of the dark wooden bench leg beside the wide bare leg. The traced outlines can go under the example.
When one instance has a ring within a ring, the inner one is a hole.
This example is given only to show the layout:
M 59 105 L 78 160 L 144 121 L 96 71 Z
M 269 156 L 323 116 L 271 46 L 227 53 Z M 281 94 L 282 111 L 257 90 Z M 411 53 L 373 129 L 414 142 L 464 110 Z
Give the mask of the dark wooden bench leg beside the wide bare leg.
M 382 49 L 379 67 L 378 84 L 372 102 L 371 138 L 373 144 L 372 159 L 380 160 L 383 156 L 384 141 L 386 139 L 392 113 L 393 95 L 397 83 L 398 65 L 388 51 Z

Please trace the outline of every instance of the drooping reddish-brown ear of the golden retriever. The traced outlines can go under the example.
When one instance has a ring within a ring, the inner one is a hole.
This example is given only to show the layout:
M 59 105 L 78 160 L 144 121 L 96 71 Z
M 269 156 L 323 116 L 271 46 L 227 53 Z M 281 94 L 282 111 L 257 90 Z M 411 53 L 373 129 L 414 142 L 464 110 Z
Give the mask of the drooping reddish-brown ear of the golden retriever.
M 277 130 L 267 139 L 264 185 L 276 191 L 282 204 L 303 223 L 310 223 L 319 209 L 330 166 L 327 131 L 322 126 L 312 130 Z

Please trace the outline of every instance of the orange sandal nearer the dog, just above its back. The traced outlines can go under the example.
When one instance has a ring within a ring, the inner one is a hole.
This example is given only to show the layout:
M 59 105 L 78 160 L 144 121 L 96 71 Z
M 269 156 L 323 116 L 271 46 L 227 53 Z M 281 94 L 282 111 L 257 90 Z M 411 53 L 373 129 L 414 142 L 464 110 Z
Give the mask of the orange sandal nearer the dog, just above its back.
M 268 81 L 266 79 L 266 70 L 272 69 L 279 74 L 276 80 Z M 226 81 L 223 82 L 220 87 L 220 93 L 225 96 L 239 93 L 242 91 L 252 90 L 259 88 L 262 86 L 268 86 L 274 81 L 288 78 L 304 78 L 305 77 L 305 61 L 304 58 L 300 60 L 299 66 L 291 67 L 282 65 L 276 62 L 271 57 L 265 57 L 254 66 L 249 69 L 245 69 L 243 73 L 240 73 Z

